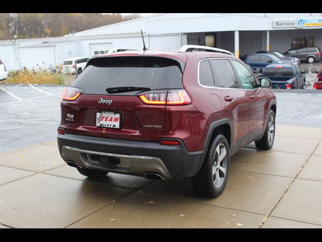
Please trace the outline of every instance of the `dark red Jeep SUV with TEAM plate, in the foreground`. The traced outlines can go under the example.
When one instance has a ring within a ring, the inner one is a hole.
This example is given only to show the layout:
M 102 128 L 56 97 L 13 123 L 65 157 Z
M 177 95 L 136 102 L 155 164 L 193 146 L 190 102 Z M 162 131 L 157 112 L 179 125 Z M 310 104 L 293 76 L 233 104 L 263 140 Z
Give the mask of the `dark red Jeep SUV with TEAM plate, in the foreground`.
M 273 145 L 270 86 L 216 48 L 94 56 L 64 90 L 59 151 L 89 177 L 192 178 L 197 192 L 217 197 L 231 155 L 252 141 Z

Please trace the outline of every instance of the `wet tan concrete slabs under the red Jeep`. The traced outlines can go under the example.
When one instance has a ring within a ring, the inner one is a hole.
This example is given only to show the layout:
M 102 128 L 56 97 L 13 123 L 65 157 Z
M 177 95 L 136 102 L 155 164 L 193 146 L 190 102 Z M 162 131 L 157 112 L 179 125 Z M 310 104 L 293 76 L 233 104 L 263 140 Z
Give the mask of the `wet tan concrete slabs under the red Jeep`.
M 216 199 L 198 196 L 190 179 L 88 179 L 65 165 L 56 141 L 0 154 L 0 227 L 322 228 L 322 128 L 276 132 L 272 150 L 250 144 L 231 157 Z

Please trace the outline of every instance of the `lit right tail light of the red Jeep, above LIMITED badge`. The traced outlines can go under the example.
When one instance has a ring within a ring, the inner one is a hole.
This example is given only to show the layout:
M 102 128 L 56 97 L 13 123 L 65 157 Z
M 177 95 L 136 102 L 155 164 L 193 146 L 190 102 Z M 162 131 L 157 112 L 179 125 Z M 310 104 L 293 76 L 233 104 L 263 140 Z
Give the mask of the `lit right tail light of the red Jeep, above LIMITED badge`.
M 185 89 L 169 91 L 144 92 L 139 95 L 140 100 L 147 105 L 187 105 L 191 98 Z

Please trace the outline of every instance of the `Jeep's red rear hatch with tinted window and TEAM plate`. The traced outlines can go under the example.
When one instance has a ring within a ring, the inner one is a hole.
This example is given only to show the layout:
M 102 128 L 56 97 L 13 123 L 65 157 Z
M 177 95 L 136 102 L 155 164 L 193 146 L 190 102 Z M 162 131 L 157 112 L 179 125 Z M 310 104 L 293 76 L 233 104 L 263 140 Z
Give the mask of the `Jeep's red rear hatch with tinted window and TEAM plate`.
M 183 69 L 182 62 L 166 57 L 93 58 L 71 85 L 81 95 L 62 101 L 60 127 L 78 135 L 158 142 L 166 107 L 158 100 L 183 89 Z M 142 94 L 151 104 L 143 103 Z

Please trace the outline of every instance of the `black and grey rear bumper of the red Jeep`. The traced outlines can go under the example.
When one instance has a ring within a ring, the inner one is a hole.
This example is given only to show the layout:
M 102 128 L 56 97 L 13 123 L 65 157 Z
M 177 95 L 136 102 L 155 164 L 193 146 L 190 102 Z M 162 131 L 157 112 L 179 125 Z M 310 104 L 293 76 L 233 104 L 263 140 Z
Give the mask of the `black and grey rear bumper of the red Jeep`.
M 189 152 L 180 146 L 163 146 L 153 142 L 113 140 L 80 135 L 58 135 L 58 148 L 64 161 L 78 166 L 115 173 L 143 176 L 157 173 L 163 179 L 183 179 L 196 175 L 206 150 Z M 93 155 L 113 157 L 119 164 L 93 160 Z

